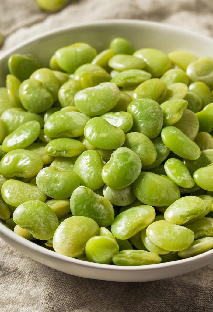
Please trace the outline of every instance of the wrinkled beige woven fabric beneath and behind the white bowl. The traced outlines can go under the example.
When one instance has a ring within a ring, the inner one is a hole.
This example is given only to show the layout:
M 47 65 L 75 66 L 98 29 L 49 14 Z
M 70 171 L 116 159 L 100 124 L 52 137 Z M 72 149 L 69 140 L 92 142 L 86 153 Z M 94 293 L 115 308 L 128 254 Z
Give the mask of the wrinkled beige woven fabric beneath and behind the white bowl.
M 55 14 L 0 0 L 2 50 L 54 27 L 109 18 L 165 22 L 213 37 L 212 0 L 73 0 Z M 212 312 L 213 264 L 145 283 L 88 280 L 22 255 L 0 239 L 1 312 Z

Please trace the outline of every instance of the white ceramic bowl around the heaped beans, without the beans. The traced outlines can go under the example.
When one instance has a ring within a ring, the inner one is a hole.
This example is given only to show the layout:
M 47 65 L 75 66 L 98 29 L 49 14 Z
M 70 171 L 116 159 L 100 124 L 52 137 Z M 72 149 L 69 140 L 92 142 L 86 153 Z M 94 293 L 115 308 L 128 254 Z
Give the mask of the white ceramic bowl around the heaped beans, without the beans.
M 0 59 L 0 86 L 5 85 L 7 60 L 13 53 L 32 53 L 48 66 L 54 51 L 74 42 L 87 42 L 101 51 L 114 37 L 125 37 L 136 49 L 153 47 L 165 52 L 188 51 L 197 56 L 213 56 L 213 40 L 208 37 L 155 22 L 108 20 L 62 27 L 34 37 L 12 48 Z M 147 266 L 113 266 L 62 256 L 18 236 L 0 222 L 0 237 L 26 256 L 68 274 L 98 280 L 141 282 L 169 278 L 206 266 L 213 250 L 188 259 Z

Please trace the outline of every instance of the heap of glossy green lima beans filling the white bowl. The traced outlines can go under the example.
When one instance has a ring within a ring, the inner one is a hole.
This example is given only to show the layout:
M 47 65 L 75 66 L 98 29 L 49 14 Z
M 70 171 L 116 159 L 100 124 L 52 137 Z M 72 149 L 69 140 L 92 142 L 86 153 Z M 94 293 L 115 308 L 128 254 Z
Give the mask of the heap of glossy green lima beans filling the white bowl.
M 10 56 L 2 222 L 84 266 L 154 268 L 210 254 L 213 59 L 110 39 L 99 54 L 92 40 L 57 45 L 50 69 L 28 51 Z M 198 236 L 188 224 L 202 219 Z

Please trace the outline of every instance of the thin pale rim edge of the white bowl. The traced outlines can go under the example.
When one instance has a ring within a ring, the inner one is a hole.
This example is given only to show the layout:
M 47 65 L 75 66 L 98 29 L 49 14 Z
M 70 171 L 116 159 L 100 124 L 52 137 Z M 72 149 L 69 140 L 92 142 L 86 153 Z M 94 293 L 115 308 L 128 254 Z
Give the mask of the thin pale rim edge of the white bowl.
M 57 27 L 54 28 L 53 30 L 49 30 L 46 31 L 40 35 L 36 35 L 33 36 L 30 39 L 24 40 L 21 43 L 18 43 L 17 45 L 15 45 L 14 47 L 7 49 L 7 50 L 3 50 L 3 52 L 0 55 L 0 61 L 3 60 L 4 58 L 10 56 L 12 53 L 16 52 L 16 50 L 23 48 L 29 44 L 31 44 L 34 41 L 37 41 L 39 39 L 44 39 L 44 38 L 48 38 L 51 37 L 55 34 L 59 34 L 60 32 L 66 32 L 72 29 L 76 29 L 76 28 L 84 28 L 84 27 L 88 27 L 88 26 L 96 26 L 96 25 L 110 25 L 110 24 L 140 24 L 142 26 L 150 26 L 150 27 L 158 27 L 161 28 L 163 30 L 168 30 L 168 31 L 175 31 L 175 32 L 179 32 L 181 33 L 183 36 L 192 36 L 195 39 L 199 40 L 199 39 L 205 39 L 206 41 L 209 41 L 211 43 L 213 43 L 213 39 L 211 37 L 208 37 L 206 35 L 201 35 L 198 34 L 196 32 L 193 31 L 188 31 L 185 30 L 181 27 L 177 27 L 177 26 L 173 26 L 170 24 L 165 24 L 165 23 L 159 23 L 159 22 L 152 22 L 152 21 L 141 21 L 141 20 L 137 20 L 137 19 L 107 19 L 107 20 L 97 20 L 97 21 L 93 21 L 93 22 L 83 22 L 83 23 L 79 23 L 79 24 L 73 24 L 73 25 L 67 25 L 67 26 L 61 26 L 61 27 Z M 0 233 L 2 234 L 1 238 L 4 240 L 3 237 L 7 237 L 8 239 L 12 240 L 12 241 L 16 241 L 19 245 L 22 245 L 28 249 L 30 249 L 31 251 L 36 251 L 37 253 L 39 253 L 40 255 L 46 255 L 48 257 L 53 257 L 56 258 L 58 260 L 61 261 L 65 261 L 68 262 L 70 264 L 73 263 L 73 265 L 79 265 L 79 266 L 83 266 L 85 268 L 99 268 L 102 270 L 116 270 L 116 271 L 149 271 L 149 270 L 154 270 L 154 269 L 165 269 L 165 268 L 171 268 L 171 267 L 175 267 L 178 264 L 184 265 L 187 264 L 189 262 L 196 262 L 196 261 L 200 261 L 204 258 L 206 258 L 206 256 L 209 255 L 213 255 L 213 249 L 206 251 L 204 253 L 201 253 L 197 256 L 192 256 L 189 258 L 183 258 L 180 260 L 175 260 L 175 261 L 171 261 L 171 262 L 163 262 L 163 263 L 158 263 L 158 264 L 151 264 L 151 265 L 143 265 L 143 266 L 113 266 L 110 264 L 101 264 L 101 263 L 95 263 L 95 262 L 90 262 L 90 261 L 83 261 L 83 260 L 79 260 L 76 258 L 71 258 L 69 256 L 64 256 L 61 254 L 58 254 L 54 251 L 51 251 L 45 247 L 42 247 L 40 245 L 37 245 L 36 243 L 34 243 L 33 241 L 28 241 L 27 239 L 19 236 L 18 234 L 16 234 L 15 232 L 13 232 L 11 229 L 7 228 L 5 226 L 5 224 L 3 222 L 0 221 Z M 15 248 L 16 249 L 16 248 Z M 18 251 L 20 251 L 19 249 L 17 249 Z M 20 251 L 21 252 L 21 251 Z

